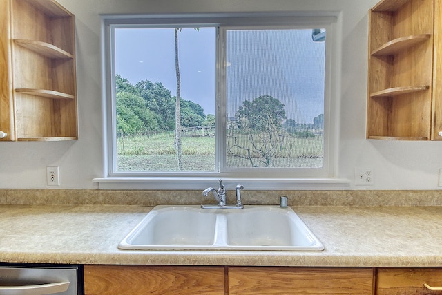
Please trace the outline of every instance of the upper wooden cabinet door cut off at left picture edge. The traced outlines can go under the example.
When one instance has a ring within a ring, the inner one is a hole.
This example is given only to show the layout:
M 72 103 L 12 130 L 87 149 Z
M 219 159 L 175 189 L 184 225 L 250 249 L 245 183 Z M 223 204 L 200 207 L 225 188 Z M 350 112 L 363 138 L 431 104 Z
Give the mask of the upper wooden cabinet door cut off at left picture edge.
M 0 1 L 0 32 L 0 131 L 8 133 L 4 141 L 15 140 L 9 1 Z

